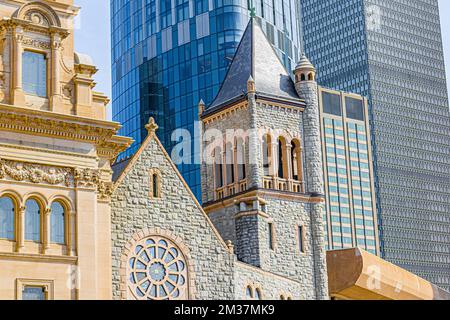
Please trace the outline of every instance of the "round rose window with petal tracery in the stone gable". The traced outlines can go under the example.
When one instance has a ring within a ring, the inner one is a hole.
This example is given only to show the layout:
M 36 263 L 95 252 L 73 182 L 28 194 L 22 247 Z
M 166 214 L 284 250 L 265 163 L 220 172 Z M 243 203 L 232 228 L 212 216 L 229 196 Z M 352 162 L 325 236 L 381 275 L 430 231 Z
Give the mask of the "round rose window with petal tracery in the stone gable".
M 139 300 L 187 297 L 186 260 L 169 240 L 151 237 L 136 244 L 129 258 L 129 288 Z

